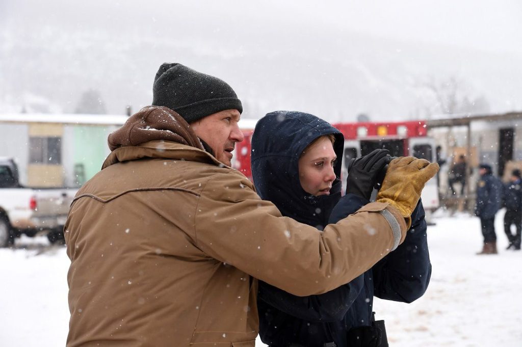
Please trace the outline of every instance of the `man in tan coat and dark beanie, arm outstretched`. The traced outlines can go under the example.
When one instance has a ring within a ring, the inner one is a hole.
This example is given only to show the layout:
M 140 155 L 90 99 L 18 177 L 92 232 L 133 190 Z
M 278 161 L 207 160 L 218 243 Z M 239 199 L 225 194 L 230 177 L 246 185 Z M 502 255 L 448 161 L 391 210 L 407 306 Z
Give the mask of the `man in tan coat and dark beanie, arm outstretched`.
M 438 170 L 409 157 L 379 202 L 319 232 L 229 167 L 243 135 L 227 83 L 165 63 L 153 105 L 109 136 L 69 211 L 70 347 L 253 347 L 257 279 L 295 295 L 349 282 L 404 241 Z

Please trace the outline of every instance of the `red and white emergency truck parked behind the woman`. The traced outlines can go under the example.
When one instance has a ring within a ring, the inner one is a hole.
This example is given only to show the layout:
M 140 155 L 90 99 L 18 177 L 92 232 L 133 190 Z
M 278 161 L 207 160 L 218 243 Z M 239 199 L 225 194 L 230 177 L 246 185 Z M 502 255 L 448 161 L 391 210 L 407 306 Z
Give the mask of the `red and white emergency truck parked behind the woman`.
M 248 119 L 247 121 L 251 120 Z M 350 159 L 368 154 L 377 148 L 388 149 L 394 157 L 413 155 L 413 157 L 424 158 L 431 162 L 436 161 L 435 143 L 428 136 L 428 129 L 426 129 L 424 121 L 337 123 L 333 126 L 345 136 L 341 174 L 343 177 L 346 177 L 346 164 Z M 236 144 L 232 165 L 252 180 L 250 150 L 255 122 L 240 122 L 240 127 L 245 135 L 245 140 Z M 346 184 L 345 180 L 342 181 L 343 184 Z M 422 190 L 422 202 L 426 211 L 434 211 L 438 208 L 439 201 L 435 177 L 426 183 Z

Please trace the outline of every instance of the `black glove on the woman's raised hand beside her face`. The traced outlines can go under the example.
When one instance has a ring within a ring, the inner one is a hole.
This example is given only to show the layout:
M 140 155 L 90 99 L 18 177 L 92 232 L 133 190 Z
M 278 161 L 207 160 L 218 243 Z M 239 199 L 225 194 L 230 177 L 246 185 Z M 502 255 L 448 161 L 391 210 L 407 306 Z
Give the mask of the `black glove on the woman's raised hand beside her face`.
M 346 180 L 346 194 L 355 194 L 370 200 L 379 173 L 390 161 L 387 149 L 376 149 L 352 161 Z

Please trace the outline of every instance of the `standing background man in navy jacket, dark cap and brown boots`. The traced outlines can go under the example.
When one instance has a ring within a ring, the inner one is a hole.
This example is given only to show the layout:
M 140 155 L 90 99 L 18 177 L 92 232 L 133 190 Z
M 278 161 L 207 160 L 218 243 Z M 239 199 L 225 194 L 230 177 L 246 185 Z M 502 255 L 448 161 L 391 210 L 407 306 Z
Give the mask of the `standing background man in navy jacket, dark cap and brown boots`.
M 479 174 L 475 216 L 480 218 L 484 242 L 482 250 L 477 254 L 497 254 L 495 214 L 501 205 L 502 183 L 498 178 L 493 176 L 489 164 L 480 164 Z

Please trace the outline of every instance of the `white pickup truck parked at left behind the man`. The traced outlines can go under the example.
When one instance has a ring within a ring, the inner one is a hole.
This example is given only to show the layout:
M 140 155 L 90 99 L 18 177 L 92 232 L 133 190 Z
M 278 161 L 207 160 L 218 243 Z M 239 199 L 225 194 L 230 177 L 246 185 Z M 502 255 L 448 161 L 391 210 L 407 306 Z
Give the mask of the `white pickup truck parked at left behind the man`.
M 0 158 L 0 247 L 21 234 L 46 234 L 51 243 L 64 242 L 63 226 L 76 188 L 28 188 L 18 182 L 13 159 Z

